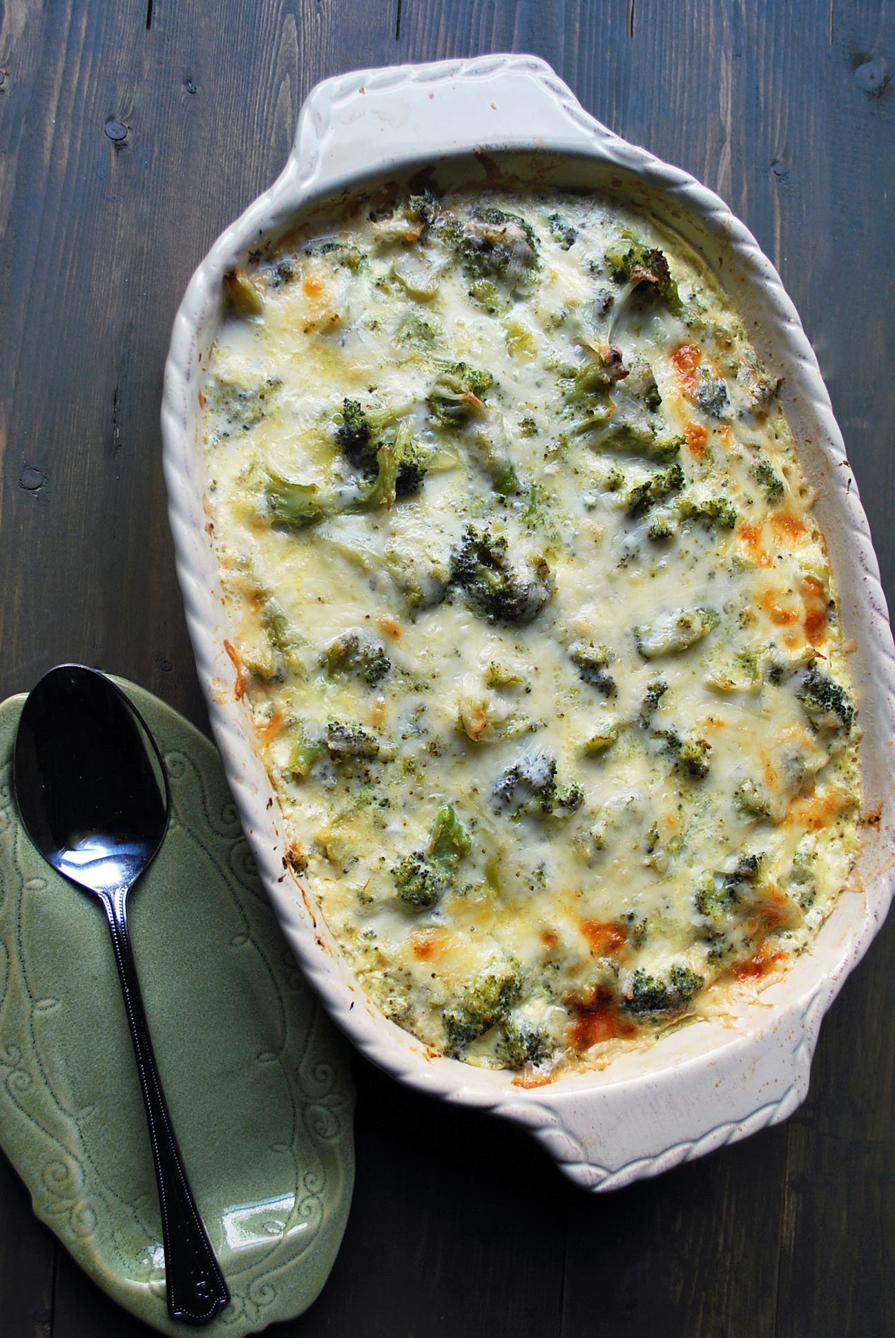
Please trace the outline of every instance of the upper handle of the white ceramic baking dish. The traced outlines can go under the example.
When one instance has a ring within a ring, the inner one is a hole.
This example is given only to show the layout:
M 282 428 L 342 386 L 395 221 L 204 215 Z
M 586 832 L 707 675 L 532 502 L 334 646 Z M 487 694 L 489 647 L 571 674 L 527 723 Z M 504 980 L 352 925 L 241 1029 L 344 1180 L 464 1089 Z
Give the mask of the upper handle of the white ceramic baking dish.
M 536 134 L 524 127 L 536 126 Z M 286 169 L 293 186 L 329 190 L 371 163 L 468 149 L 575 150 L 622 140 L 589 115 L 538 56 L 491 55 L 427 66 L 359 70 L 312 88 Z

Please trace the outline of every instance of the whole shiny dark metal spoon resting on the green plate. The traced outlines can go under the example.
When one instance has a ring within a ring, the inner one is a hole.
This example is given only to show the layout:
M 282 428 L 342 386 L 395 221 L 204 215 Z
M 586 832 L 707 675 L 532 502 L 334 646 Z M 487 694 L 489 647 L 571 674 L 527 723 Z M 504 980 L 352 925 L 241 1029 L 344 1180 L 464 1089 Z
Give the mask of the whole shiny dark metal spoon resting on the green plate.
M 127 933 L 127 892 L 167 827 L 162 757 L 111 680 L 83 665 L 58 665 L 24 704 L 12 775 L 19 814 L 43 858 L 106 911 L 153 1145 L 167 1309 L 173 1319 L 206 1323 L 230 1294 L 174 1139 Z

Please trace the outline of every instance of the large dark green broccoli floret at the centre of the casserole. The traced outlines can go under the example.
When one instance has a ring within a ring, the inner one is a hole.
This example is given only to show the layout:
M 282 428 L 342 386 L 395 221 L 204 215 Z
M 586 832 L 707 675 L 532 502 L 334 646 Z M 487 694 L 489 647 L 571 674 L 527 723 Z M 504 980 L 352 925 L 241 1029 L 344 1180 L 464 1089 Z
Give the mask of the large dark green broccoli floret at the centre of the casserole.
M 471 524 L 451 554 L 451 583 L 464 591 L 488 622 L 504 624 L 531 622 L 554 590 L 544 558 L 536 558 L 528 573 L 520 575 L 510 562 L 506 538 Z

